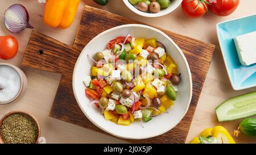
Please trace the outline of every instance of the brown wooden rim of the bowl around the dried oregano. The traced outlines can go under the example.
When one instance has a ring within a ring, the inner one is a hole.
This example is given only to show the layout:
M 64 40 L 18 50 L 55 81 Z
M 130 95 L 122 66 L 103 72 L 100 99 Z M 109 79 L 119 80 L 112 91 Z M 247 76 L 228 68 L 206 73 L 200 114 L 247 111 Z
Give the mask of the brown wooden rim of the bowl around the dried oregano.
M 5 116 L 3 116 L 0 120 L 0 127 L 2 126 L 3 124 L 3 121 L 10 115 L 13 115 L 13 114 L 26 114 L 28 116 L 30 116 L 36 123 L 36 125 L 38 126 L 38 138 L 36 140 L 36 144 L 39 143 L 39 138 L 40 138 L 40 135 L 41 135 L 41 129 L 40 129 L 40 125 L 38 123 L 38 120 L 35 119 L 35 117 L 33 115 L 30 115 L 28 114 L 27 112 L 24 112 L 24 111 L 11 111 L 7 114 L 5 114 Z M 3 139 L 2 139 L 2 135 L 1 135 L 1 128 L 0 128 L 0 144 L 5 144 Z

